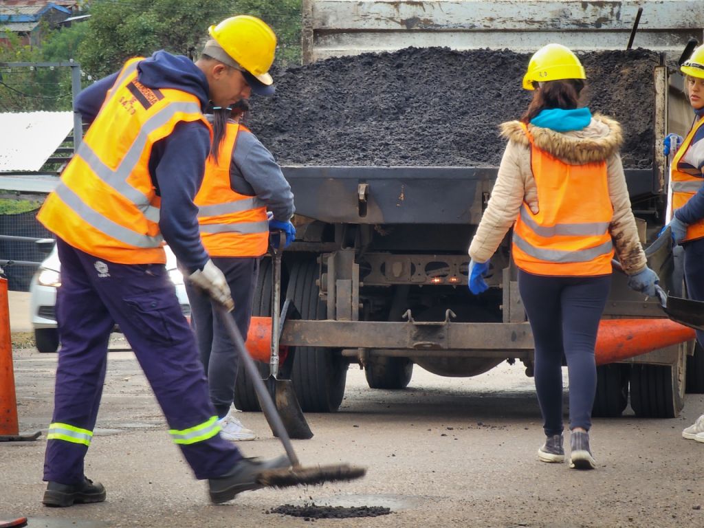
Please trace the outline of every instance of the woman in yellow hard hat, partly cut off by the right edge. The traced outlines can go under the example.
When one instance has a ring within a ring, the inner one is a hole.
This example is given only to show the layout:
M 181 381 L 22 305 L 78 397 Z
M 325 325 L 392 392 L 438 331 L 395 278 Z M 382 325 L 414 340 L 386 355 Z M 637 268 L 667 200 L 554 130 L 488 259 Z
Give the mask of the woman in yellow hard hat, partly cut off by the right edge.
M 672 220 L 670 228 L 676 244 L 684 249 L 684 279 L 687 294 L 704 301 L 704 46 L 694 50 L 681 65 L 694 120 L 689 134 L 679 139 L 679 149 L 672 159 Z M 665 149 L 672 146 L 667 136 Z M 704 344 L 704 332 L 697 331 L 697 341 Z M 704 444 L 704 415 L 682 431 L 682 436 Z

